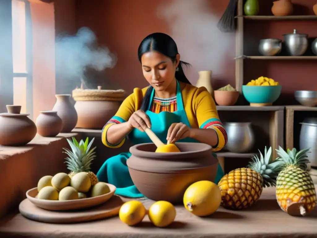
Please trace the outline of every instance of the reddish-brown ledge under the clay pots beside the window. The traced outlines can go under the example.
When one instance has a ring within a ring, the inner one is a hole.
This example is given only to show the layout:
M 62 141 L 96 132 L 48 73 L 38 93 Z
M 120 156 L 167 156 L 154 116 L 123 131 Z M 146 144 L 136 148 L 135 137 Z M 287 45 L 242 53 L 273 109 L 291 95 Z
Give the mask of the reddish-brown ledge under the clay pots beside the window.
M 61 133 L 56 137 L 36 137 L 25 146 L 0 146 L 0 217 L 16 209 L 30 188 L 44 175 L 68 172 L 62 148 L 69 148 L 66 138 L 81 139 L 81 133 Z

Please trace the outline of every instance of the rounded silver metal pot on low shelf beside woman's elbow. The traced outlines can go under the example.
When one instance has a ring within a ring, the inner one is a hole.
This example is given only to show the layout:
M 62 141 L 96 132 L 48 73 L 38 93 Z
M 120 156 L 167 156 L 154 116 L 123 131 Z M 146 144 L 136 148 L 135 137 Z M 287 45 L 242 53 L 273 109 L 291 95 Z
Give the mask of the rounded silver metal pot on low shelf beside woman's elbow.
M 233 153 L 247 153 L 254 146 L 255 136 L 251 122 L 225 122 L 228 142 L 224 149 Z

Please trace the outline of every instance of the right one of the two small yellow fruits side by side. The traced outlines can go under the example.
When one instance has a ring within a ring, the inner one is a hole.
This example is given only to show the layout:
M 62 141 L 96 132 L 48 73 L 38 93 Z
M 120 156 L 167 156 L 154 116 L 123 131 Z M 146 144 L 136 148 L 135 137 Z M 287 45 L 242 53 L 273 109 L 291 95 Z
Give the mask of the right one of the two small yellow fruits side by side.
M 152 204 L 148 215 L 155 226 L 166 227 L 175 220 L 176 210 L 170 202 L 158 201 Z

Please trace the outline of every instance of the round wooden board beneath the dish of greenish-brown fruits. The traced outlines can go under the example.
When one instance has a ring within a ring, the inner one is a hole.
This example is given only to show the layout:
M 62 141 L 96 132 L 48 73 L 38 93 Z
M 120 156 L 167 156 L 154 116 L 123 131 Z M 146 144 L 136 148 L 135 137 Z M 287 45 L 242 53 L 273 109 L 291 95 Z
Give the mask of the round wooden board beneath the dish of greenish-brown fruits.
M 79 223 L 85 221 L 100 220 L 119 214 L 124 201 L 117 195 L 113 195 L 106 203 L 86 210 L 49 211 L 37 207 L 24 199 L 19 205 L 20 213 L 33 221 L 46 223 Z

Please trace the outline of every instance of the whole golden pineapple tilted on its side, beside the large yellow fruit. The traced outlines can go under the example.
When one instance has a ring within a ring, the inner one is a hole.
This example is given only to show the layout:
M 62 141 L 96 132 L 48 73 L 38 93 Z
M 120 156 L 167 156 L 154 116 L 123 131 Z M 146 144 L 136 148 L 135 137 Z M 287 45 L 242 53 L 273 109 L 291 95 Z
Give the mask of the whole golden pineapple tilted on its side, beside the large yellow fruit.
M 264 157 L 253 155 L 247 168 L 230 171 L 218 183 L 221 191 L 221 206 L 231 210 L 248 208 L 255 204 L 263 187 L 275 186 L 281 162 L 272 161 L 272 148 L 264 149 Z

